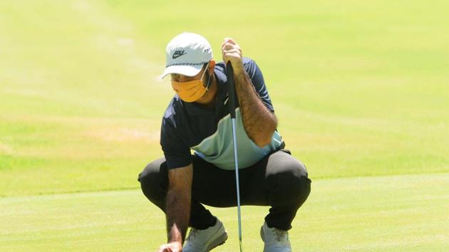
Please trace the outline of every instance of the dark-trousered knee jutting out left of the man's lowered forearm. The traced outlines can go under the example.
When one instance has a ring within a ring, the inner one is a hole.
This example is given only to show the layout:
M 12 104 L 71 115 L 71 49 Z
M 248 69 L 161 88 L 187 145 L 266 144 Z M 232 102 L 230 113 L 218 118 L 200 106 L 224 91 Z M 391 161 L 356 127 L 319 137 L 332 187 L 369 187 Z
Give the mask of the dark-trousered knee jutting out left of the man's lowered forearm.
M 138 182 L 143 194 L 150 200 L 160 199 L 167 189 L 167 167 L 165 159 L 157 159 L 147 164 L 140 172 Z M 162 195 L 161 195 L 162 194 Z

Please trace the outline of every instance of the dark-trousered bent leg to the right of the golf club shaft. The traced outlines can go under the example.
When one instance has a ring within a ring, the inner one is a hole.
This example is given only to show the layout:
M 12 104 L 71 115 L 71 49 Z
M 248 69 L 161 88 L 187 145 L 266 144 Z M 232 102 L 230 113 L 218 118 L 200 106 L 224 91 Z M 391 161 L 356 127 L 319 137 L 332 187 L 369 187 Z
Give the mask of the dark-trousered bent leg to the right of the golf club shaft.
M 272 206 L 267 225 L 287 231 L 310 194 L 310 184 L 304 164 L 280 150 L 242 170 L 240 197 L 244 205 Z

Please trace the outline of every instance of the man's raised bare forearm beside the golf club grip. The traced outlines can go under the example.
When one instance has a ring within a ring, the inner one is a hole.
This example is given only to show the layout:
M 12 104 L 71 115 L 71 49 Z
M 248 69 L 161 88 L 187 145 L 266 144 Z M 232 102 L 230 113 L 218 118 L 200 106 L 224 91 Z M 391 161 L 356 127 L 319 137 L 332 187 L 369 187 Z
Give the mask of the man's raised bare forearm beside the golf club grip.
M 276 117 L 262 103 L 244 69 L 234 72 L 234 83 L 248 137 L 259 147 L 268 145 L 277 127 Z

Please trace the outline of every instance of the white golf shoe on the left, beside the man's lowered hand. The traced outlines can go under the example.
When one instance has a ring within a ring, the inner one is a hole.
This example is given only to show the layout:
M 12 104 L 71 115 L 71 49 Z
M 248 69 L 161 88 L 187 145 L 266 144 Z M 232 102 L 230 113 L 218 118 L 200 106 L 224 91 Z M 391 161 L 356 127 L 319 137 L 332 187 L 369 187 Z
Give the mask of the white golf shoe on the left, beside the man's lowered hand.
M 227 232 L 222 221 L 207 229 L 190 229 L 189 236 L 185 239 L 182 252 L 207 252 L 220 246 L 227 240 Z

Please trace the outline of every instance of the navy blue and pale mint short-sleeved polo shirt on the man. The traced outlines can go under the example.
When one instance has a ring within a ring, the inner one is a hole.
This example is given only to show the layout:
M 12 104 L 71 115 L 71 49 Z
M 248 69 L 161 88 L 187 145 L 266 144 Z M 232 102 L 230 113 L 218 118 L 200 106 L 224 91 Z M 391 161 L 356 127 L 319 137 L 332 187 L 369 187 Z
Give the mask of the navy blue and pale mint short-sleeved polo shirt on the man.
M 243 65 L 252 85 L 262 99 L 262 103 L 274 112 L 259 67 L 249 58 L 243 58 Z M 165 110 L 160 131 L 160 145 L 168 169 L 185 167 L 192 163 L 191 149 L 198 157 L 221 169 L 234 169 L 232 124 L 228 107 L 226 70 L 223 62 L 215 65 L 214 74 L 217 80 L 215 109 L 212 110 L 197 103 L 186 103 L 175 95 Z M 238 104 L 235 112 L 239 169 L 250 167 L 270 152 L 281 147 L 282 137 L 277 131 L 274 132 L 269 145 L 261 148 L 254 144 L 244 130 Z

